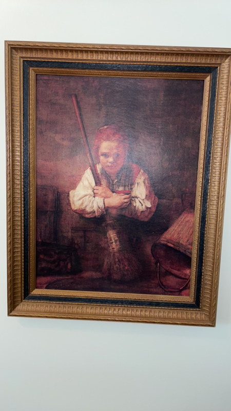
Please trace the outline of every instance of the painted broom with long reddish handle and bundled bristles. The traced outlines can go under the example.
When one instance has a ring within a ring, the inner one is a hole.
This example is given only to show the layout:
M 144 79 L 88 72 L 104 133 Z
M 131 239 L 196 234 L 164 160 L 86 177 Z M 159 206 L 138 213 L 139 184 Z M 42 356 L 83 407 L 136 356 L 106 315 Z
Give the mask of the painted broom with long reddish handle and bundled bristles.
M 94 182 L 95 185 L 100 186 L 101 181 L 99 175 L 95 171 L 95 165 L 87 140 L 80 105 L 75 94 L 73 94 L 71 97 L 75 114 L 80 126 L 86 155 L 91 167 L 91 172 L 93 174 Z M 131 281 L 134 278 L 137 278 L 141 274 L 142 267 L 137 258 L 132 253 L 126 233 L 119 225 L 118 221 L 112 218 L 110 214 L 108 214 L 108 212 L 106 212 L 105 214 L 104 226 L 106 228 L 108 252 L 105 255 L 104 266 L 102 270 L 103 276 L 110 278 L 113 281 L 120 282 L 127 282 Z

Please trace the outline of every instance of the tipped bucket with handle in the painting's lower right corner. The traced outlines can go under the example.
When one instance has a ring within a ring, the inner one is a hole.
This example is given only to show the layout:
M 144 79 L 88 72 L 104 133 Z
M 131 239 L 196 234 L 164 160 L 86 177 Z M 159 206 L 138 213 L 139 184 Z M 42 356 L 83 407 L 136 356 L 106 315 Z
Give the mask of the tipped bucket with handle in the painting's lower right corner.
M 194 210 L 185 210 L 180 217 L 153 244 L 151 253 L 156 260 L 158 282 L 167 292 L 179 292 L 190 281 Z M 160 267 L 184 280 L 180 288 L 165 286 L 160 279 Z

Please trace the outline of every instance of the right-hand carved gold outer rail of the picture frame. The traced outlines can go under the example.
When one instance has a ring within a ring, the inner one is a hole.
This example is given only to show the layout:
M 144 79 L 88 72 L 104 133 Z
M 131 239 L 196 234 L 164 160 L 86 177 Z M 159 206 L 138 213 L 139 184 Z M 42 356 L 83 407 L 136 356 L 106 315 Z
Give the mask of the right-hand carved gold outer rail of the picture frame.
M 227 176 L 230 116 L 230 59 L 221 66 L 219 95 L 217 101 L 216 123 L 214 127 L 214 148 L 211 155 L 211 170 L 208 195 L 208 213 L 205 238 L 205 281 L 202 295 L 202 310 L 209 315 L 211 325 L 215 326 L 219 267 L 221 258 L 222 222 Z M 227 107 L 226 107 L 227 103 Z

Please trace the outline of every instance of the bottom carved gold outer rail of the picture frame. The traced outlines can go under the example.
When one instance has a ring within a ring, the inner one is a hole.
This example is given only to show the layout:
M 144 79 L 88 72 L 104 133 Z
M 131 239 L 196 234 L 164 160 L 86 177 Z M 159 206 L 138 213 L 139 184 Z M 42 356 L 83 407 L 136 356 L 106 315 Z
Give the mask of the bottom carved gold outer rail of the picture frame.
M 24 301 L 11 316 L 213 326 L 200 310 Z

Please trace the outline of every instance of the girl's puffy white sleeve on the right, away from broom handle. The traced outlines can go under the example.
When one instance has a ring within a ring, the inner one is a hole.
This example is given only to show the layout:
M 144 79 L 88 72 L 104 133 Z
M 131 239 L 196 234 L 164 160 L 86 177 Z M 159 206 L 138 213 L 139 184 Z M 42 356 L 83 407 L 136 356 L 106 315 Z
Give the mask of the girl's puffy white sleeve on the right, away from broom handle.
M 158 198 L 151 189 L 147 174 L 141 170 L 131 191 L 131 200 L 122 214 L 148 221 L 157 208 Z

